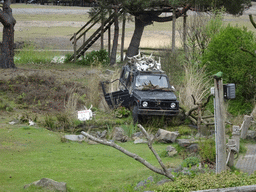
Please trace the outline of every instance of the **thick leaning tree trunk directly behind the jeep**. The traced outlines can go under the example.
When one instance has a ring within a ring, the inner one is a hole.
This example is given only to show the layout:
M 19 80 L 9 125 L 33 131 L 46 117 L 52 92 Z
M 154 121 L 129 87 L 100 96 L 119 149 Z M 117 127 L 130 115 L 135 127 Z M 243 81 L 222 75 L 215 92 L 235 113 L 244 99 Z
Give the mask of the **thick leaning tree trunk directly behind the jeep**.
M 145 23 L 142 22 L 138 17 L 135 17 L 135 29 L 132 36 L 132 40 L 128 47 L 126 57 L 132 57 L 138 54 L 140 40 L 144 31 Z

